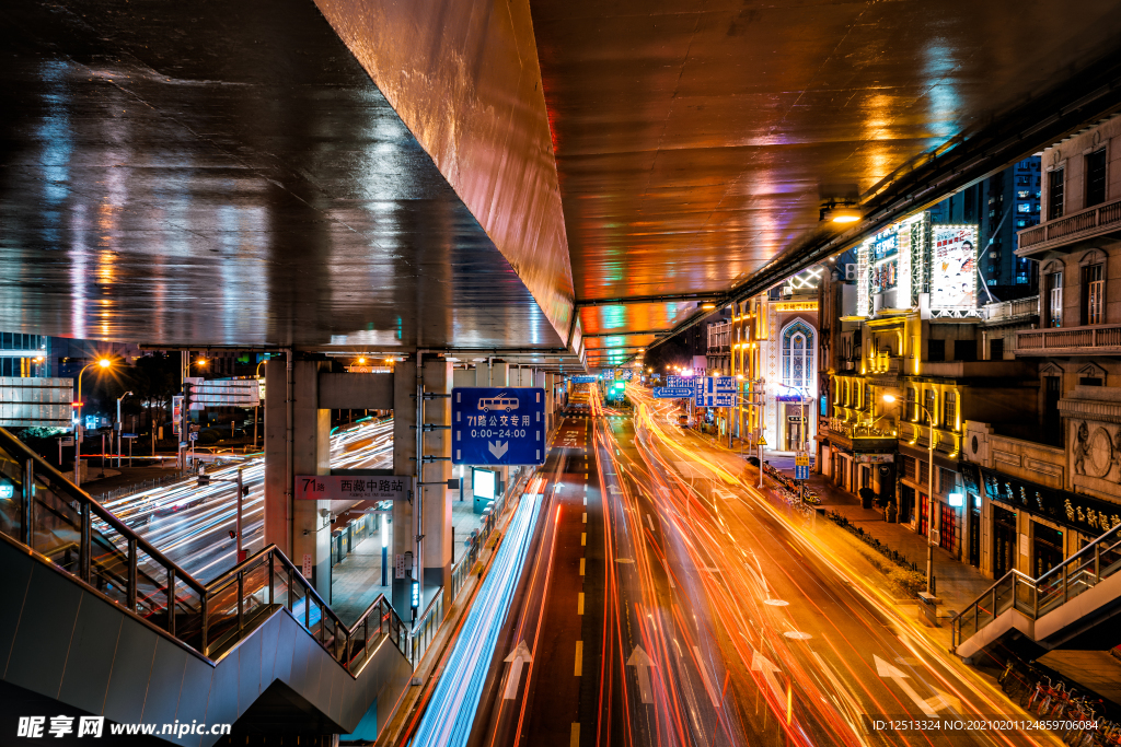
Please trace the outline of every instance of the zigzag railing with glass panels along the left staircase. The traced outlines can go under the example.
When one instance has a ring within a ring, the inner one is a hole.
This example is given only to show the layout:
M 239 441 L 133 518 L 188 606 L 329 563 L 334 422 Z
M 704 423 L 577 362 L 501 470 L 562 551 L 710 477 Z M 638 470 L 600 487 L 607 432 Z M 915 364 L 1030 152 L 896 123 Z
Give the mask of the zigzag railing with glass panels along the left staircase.
M 278 606 L 351 674 L 386 636 L 411 653 L 385 596 L 346 626 L 276 545 L 202 583 L 2 428 L 0 534 L 211 660 Z

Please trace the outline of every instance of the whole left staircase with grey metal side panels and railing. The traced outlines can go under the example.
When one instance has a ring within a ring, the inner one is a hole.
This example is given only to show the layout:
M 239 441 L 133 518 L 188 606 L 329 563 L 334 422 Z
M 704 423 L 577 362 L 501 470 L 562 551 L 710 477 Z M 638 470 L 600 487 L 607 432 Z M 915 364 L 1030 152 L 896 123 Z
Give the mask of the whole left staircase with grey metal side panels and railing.
M 346 626 L 274 545 L 202 583 L 3 429 L 0 568 L 0 680 L 110 721 L 232 723 L 276 700 L 306 717 L 285 734 L 376 734 L 411 678 L 385 597 Z

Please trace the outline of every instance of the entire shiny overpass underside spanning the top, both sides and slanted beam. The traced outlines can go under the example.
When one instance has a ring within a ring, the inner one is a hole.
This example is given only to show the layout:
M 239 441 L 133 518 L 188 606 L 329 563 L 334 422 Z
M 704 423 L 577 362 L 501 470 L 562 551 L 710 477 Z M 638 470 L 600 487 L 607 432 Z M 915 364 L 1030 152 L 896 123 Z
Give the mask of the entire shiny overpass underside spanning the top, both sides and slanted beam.
M 154 345 L 608 365 L 1121 104 L 1104 1 L 28 1 L 0 28 L 0 327 Z

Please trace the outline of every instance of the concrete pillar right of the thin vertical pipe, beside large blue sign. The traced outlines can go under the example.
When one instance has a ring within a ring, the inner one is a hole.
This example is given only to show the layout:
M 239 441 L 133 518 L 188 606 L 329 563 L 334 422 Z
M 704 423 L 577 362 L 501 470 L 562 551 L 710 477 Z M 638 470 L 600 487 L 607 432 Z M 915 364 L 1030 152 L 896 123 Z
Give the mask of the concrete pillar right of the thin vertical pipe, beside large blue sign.
M 444 358 L 424 362 L 426 392 L 451 394 L 452 364 Z M 427 400 L 424 405 L 425 422 L 434 426 L 452 424 L 452 400 Z M 452 456 L 452 431 L 434 430 L 424 436 L 424 454 L 434 457 Z M 424 487 L 424 586 L 444 588 L 444 609 L 452 607 L 452 502 L 446 483 L 452 477 L 451 461 L 433 461 L 424 466 L 424 482 L 439 485 Z

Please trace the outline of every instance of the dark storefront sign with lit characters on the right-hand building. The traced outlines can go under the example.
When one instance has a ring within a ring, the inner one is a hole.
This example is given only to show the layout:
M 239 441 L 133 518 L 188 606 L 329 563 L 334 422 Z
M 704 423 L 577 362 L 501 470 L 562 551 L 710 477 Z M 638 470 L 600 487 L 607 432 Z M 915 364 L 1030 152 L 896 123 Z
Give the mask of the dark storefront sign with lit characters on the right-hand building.
M 1121 524 L 1121 505 L 1109 501 L 1044 487 L 966 463 L 961 464 L 961 474 L 966 491 L 980 495 L 983 488 L 990 501 L 1049 519 L 1088 536 Z

